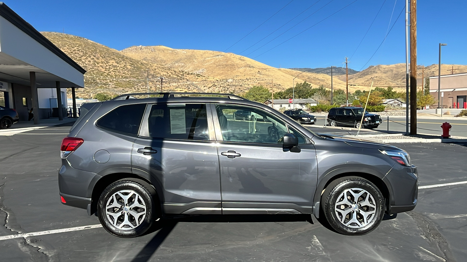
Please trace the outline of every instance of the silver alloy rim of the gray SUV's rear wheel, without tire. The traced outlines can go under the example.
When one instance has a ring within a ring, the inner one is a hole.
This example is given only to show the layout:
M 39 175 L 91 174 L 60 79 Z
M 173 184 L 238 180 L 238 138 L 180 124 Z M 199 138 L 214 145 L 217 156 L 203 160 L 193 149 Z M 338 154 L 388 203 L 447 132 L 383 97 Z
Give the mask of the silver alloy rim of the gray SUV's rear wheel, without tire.
M 120 190 L 107 200 L 105 212 L 108 221 L 121 230 L 138 227 L 146 217 L 146 204 L 133 190 Z

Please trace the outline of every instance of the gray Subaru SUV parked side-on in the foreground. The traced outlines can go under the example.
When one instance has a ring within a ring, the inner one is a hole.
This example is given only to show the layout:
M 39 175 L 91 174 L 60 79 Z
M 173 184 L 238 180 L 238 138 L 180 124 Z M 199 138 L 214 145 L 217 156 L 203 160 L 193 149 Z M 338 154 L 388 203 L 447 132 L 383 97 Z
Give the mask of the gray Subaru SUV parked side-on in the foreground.
M 134 99 L 136 97 L 142 97 Z M 233 113 L 250 112 L 248 119 Z M 391 146 L 318 135 L 229 94 L 128 94 L 85 104 L 61 145 L 62 203 L 136 237 L 173 214 L 314 214 L 367 234 L 417 204 L 417 169 Z

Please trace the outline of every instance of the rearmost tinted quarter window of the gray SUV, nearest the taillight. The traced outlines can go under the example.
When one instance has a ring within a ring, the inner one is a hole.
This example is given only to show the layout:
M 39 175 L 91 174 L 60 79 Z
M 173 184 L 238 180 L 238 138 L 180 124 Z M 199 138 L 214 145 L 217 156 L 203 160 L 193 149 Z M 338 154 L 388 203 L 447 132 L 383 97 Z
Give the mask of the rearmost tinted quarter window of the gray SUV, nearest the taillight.
M 107 113 L 96 125 L 112 131 L 138 135 L 145 103 L 122 105 Z

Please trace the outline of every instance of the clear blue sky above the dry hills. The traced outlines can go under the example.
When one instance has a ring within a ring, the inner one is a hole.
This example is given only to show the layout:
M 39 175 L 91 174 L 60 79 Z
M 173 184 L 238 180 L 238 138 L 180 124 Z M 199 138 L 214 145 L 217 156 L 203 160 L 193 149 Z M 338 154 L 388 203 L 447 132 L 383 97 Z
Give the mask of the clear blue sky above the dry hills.
M 134 45 L 217 51 L 230 47 L 227 52 L 283 68 L 342 66 L 346 56 L 350 58 L 349 67 L 356 70 L 405 62 L 404 11 L 396 21 L 405 6 L 404 0 L 290 1 L 5 0 L 5 3 L 39 31 L 64 30 L 66 34 L 82 36 L 117 50 Z M 448 44 L 443 47 L 443 63 L 466 64 L 466 11 L 465 0 L 418 1 L 418 64 L 438 63 L 439 42 Z M 393 24 L 386 40 L 368 62 Z M 272 33 L 277 28 L 280 29 Z M 310 29 L 304 31 L 307 28 Z M 260 42 L 253 46 L 257 41 Z

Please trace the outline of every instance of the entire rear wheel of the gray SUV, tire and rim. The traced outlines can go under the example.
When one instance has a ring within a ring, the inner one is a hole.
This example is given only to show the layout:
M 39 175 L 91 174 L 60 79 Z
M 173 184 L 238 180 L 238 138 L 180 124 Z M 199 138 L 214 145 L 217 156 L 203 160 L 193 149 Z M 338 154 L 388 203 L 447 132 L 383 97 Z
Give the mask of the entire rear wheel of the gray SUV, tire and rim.
M 137 237 L 160 218 L 156 191 L 140 179 L 114 182 L 102 192 L 98 203 L 99 221 L 118 237 Z

